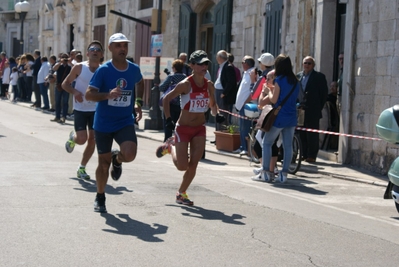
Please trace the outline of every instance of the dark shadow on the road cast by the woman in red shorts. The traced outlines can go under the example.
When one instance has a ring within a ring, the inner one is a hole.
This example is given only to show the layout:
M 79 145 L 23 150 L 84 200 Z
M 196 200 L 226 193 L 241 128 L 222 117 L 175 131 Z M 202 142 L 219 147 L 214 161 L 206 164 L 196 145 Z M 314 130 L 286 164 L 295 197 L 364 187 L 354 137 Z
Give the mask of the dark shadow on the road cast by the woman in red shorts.
M 207 210 L 197 206 L 178 206 L 178 205 L 166 205 L 166 206 L 182 208 L 189 212 L 189 213 L 183 212 L 182 213 L 183 216 L 194 217 L 204 220 L 220 220 L 224 223 L 245 225 L 245 223 L 237 221 L 246 218 L 245 216 L 240 214 L 234 213 L 233 215 L 228 216 L 223 212 L 217 210 Z

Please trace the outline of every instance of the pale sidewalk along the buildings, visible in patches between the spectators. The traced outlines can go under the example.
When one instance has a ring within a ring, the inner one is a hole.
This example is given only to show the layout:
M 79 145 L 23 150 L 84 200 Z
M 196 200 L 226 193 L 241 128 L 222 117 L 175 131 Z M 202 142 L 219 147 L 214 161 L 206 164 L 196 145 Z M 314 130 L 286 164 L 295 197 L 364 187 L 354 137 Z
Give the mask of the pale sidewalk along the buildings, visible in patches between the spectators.
M 8 101 L 8 100 L 1 100 Z M 9 101 L 8 101 L 9 102 Z M 25 108 L 30 109 L 32 112 L 35 110 L 30 108 L 30 103 L 17 102 L 17 105 L 23 106 Z M 50 113 L 50 112 L 43 112 Z M 49 114 L 50 115 L 50 114 Z M 52 116 L 52 115 L 50 115 Z M 146 119 L 150 119 L 149 110 L 143 110 L 143 118 L 139 123 L 139 129 L 137 129 L 137 136 L 141 138 L 147 138 L 155 141 L 159 141 L 160 143 L 163 141 L 163 130 L 146 130 L 144 129 L 144 122 Z M 73 119 L 68 118 L 68 121 L 72 121 Z M 206 153 L 214 153 L 228 157 L 241 158 L 242 160 L 248 160 L 248 157 L 242 156 L 239 154 L 219 151 L 216 149 L 214 144 L 211 144 L 210 141 L 215 140 L 214 136 L 215 127 L 213 123 L 209 123 L 206 125 Z M 205 155 L 206 157 L 206 155 Z M 317 158 L 317 162 L 313 164 L 309 164 L 307 162 L 302 162 L 301 168 L 298 171 L 298 175 L 306 176 L 306 173 L 320 173 L 323 175 L 328 175 L 334 178 L 345 179 L 355 182 L 367 183 L 372 185 L 377 185 L 381 187 L 386 187 L 388 184 L 388 177 L 382 176 L 379 174 L 371 173 L 366 170 L 351 167 L 348 165 L 338 164 L 334 161 L 329 160 L 329 155 L 325 151 L 320 151 L 319 156 Z M 248 164 L 249 165 L 249 164 Z M 248 175 L 252 175 L 252 168 L 248 168 Z

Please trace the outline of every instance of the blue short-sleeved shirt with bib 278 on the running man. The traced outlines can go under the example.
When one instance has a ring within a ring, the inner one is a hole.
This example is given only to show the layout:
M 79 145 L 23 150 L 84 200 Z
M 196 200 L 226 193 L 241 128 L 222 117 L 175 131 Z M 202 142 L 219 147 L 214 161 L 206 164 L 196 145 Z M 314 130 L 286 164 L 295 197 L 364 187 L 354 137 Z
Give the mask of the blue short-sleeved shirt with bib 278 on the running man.
M 133 107 L 135 85 L 143 79 L 138 65 L 128 61 L 125 70 L 118 70 L 112 60 L 101 65 L 90 80 L 89 85 L 99 92 L 110 92 L 120 87 L 122 95 L 116 99 L 107 99 L 97 103 L 93 128 L 104 133 L 116 132 L 128 125 L 134 125 Z

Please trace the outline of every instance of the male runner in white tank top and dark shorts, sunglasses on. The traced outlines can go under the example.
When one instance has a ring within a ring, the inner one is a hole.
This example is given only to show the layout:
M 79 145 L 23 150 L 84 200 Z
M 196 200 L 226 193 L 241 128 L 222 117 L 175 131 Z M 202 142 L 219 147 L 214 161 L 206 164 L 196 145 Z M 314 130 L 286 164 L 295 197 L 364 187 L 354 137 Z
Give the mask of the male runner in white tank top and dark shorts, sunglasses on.
M 101 42 L 91 42 L 87 47 L 88 60 L 83 63 L 78 62 L 74 65 L 62 83 L 62 88 L 73 95 L 74 109 L 74 130 L 69 134 L 69 139 L 65 143 L 65 149 L 68 153 L 72 153 L 76 144 L 84 145 L 87 142 L 80 166 L 77 169 L 77 177 L 85 180 L 90 179 L 90 175 L 86 173 L 86 165 L 96 147 L 93 130 L 96 102 L 87 101 L 85 94 L 94 72 L 100 66 L 103 56 L 104 52 Z M 72 87 L 74 81 L 75 87 Z

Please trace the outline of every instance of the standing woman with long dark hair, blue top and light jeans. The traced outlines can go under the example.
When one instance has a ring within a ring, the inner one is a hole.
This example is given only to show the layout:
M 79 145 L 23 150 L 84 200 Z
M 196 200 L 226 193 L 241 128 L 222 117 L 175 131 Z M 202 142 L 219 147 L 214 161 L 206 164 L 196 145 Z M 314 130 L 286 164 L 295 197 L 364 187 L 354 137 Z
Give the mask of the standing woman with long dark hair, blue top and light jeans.
M 292 63 L 289 56 L 279 55 L 274 63 L 275 83 L 274 89 L 268 92 L 267 97 L 273 107 L 278 107 L 281 102 L 293 91 L 287 101 L 282 105 L 277 118 L 267 134 L 263 138 L 261 179 L 264 182 L 271 182 L 274 178 L 273 170 L 270 170 L 269 163 L 272 156 L 272 145 L 277 136 L 281 133 L 283 138 L 284 161 L 283 168 L 279 171 L 278 181 L 287 181 L 287 174 L 292 158 L 292 139 L 297 125 L 296 99 L 299 93 L 299 83 L 292 71 Z

